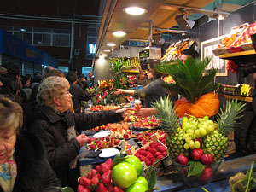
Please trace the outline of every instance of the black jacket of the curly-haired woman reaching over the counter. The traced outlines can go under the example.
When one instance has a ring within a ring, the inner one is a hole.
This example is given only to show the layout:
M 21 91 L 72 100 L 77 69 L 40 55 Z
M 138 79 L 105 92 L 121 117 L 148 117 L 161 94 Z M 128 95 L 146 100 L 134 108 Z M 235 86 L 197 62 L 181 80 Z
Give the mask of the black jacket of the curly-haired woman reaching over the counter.
M 32 105 L 32 104 L 31 104 Z M 38 105 L 26 109 L 26 124 L 30 131 L 37 134 L 44 141 L 50 165 L 61 179 L 62 186 L 77 185 L 78 170 L 69 169 L 69 162 L 80 150 L 79 142 L 74 138 L 67 140 L 67 129 L 75 125 L 79 133 L 83 130 L 123 120 L 121 113 L 115 111 L 101 113 L 55 113 L 52 108 Z

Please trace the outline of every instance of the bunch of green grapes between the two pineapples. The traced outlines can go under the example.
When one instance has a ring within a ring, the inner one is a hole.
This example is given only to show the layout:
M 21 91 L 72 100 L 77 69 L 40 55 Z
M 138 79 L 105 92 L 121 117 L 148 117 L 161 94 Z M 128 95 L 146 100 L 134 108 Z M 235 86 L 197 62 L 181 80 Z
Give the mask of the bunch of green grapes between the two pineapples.
M 204 118 L 195 118 L 194 116 L 183 117 L 182 128 L 185 131 L 183 139 L 185 149 L 201 148 L 200 138 L 206 136 L 209 132 L 214 131 L 217 127 L 207 116 Z

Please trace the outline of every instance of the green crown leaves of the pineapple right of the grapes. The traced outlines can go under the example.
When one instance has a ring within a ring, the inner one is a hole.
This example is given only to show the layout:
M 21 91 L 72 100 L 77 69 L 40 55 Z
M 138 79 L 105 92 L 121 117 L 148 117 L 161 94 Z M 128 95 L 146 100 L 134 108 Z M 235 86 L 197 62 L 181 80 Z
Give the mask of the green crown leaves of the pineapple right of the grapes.
M 236 120 L 243 116 L 241 113 L 245 110 L 245 105 L 245 103 L 237 102 L 237 100 L 227 100 L 225 106 L 220 108 L 220 113 L 217 116 L 218 131 L 224 137 L 227 137 L 230 131 L 236 127 Z

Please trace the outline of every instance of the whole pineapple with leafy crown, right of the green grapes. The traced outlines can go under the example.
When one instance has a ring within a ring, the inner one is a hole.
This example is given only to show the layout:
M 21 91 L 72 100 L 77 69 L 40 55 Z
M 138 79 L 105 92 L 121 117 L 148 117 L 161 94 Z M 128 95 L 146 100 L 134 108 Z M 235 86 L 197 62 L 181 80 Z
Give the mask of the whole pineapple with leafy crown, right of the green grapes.
M 224 158 L 229 146 L 228 134 L 234 130 L 236 120 L 241 118 L 241 112 L 245 109 L 245 104 L 228 100 L 223 109 L 218 113 L 218 129 L 202 138 L 202 149 L 205 154 L 213 154 L 214 161 Z

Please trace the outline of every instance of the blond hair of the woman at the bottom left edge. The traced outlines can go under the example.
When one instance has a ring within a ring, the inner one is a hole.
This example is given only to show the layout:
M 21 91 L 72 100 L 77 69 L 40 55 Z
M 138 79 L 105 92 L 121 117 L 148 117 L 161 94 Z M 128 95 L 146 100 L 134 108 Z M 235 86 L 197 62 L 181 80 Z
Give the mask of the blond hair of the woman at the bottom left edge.
M 0 96 L 0 130 L 15 128 L 18 133 L 23 125 L 23 110 L 17 102 Z

